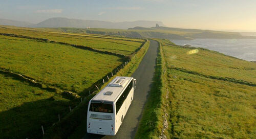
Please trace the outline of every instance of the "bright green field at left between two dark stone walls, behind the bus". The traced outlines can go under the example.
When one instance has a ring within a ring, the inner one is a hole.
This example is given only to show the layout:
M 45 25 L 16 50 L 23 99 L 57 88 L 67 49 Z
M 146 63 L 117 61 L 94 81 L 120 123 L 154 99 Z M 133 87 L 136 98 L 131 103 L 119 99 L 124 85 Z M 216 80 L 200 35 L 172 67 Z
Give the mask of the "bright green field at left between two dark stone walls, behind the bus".
M 80 92 L 121 64 L 122 59 L 69 45 L 0 35 L 0 65 L 46 85 Z

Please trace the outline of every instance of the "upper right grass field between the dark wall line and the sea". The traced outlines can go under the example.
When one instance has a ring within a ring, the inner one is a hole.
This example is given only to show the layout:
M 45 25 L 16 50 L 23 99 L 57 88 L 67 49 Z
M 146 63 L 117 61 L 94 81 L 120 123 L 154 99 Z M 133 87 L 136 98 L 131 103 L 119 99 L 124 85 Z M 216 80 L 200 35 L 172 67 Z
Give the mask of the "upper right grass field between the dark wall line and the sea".
M 234 78 L 256 84 L 256 64 L 252 62 L 205 49 L 198 49 L 197 54 L 187 55 L 191 48 L 167 47 L 165 43 L 162 45 L 168 66 L 173 65 L 206 76 Z

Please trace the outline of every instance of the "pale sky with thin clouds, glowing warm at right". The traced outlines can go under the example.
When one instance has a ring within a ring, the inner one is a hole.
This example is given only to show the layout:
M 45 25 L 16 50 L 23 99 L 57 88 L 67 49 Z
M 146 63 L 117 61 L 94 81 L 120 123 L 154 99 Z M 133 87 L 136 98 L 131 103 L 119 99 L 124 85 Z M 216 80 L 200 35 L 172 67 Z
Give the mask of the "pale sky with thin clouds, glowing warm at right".
M 255 0 L 0 0 L 0 18 L 162 21 L 167 27 L 256 32 Z

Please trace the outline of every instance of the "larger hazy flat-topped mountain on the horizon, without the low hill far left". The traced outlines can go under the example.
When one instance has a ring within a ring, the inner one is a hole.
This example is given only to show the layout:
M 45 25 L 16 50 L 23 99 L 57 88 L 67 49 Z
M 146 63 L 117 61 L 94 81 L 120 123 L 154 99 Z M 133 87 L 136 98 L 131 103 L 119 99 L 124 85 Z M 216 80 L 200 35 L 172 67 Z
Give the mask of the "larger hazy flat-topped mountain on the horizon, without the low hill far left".
M 49 18 L 41 21 L 36 25 L 30 26 L 33 28 L 105 28 L 105 29 L 128 29 L 136 26 L 150 28 L 156 24 L 164 26 L 161 21 L 124 21 L 124 22 L 110 22 L 110 21 L 98 21 L 98 20 L 81 20 L 81 19 L 69 19 L 69 18 Z

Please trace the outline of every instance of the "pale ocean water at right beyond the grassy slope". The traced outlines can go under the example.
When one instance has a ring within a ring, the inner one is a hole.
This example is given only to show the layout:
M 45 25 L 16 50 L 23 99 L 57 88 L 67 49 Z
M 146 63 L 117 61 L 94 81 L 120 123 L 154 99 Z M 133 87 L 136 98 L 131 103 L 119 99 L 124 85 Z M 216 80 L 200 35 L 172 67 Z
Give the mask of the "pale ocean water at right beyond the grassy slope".
M 218 51 L 225 55 L 247 61 L 256 61 L 256 39 L 194 39 L 170 41 L 177 45 L 189 44 L 193 47 Z

